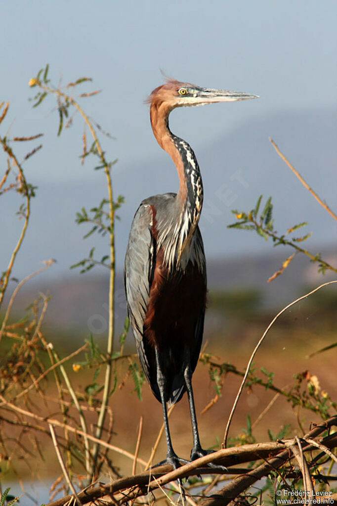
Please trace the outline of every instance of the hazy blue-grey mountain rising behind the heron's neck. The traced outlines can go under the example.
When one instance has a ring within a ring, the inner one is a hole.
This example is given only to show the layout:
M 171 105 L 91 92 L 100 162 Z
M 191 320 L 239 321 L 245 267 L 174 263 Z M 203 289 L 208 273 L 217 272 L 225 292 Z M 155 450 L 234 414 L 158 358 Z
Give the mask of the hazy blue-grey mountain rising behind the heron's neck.
M 336 116 L 337 110 L 327 109 L 272 113 L 242 123 L 230 135 L 204 146 L 196 146 L 186 133 L 202 169 L 205 198 L 200 226 L 209 262 L 224 256 L 244 254 L 249 257 L 269 250 L 270 246 L 257 234 L 227 229 L 235 220 L 231 209 L 249 210 L 261 193 L 264 198 L 273 197 L 277 230 L 309 221 L 306 231 L 314 234 L 307 247 L 316 250 L 317 244 L 331 244 L 336 240 L 336 223 L 300 184 L 268 141 L 268 136 L 272 136 L 308 183 L 334 207 Z M 184 132 L 179 135 L 184 136 Z M 47 169 L 57 170 L 56 167 Z M 86 229 L 76 226 L 74 220 L 82 205 L 97 205 L 105 195 L 104 175 L 102 178 L 94 176 L 97 174 L 83 170 L 78 182 L 67 185 L 39 185 L 31 181 L 39 188 L 32 201 L 31 222 L 16 262 L 15 276 L 21 278 L 37 269 L 40 261 L 49 258 L 56 258 L 58 263 L 46 276 L 69 276 L 69 265 L 87 255 L 94 239 L 82 241 Z M 126 199 L 118 212 L 121 221 L 116 223 L 117 268 L 122 270 L 130 223 L 139 202 L 149 195 L 176 191 L 178 178 L 171 159 L 158 148 L 155 159 L 132 164 L 120 160 L 113 168 L 113 182 L 115 195 L 120 193 Z M 2 269 L 8 263 L 20 230 L 21 223 L 15 216 L 20 203 L 10 192 L 0 198 L 2 238 L 6 238 L 0 248 Z M 98 243 L 98 256 L 105 255 L 107 241 L 95 242 Z

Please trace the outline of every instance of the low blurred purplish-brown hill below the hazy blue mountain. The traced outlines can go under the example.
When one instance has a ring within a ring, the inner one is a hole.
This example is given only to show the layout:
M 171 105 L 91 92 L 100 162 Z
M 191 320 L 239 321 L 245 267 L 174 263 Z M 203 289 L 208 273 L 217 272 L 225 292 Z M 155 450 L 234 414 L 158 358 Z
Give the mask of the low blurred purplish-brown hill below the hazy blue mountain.
M 304 287 L 318 285 L 336 275 L 329 273 L 322 276 L 317 273 L 317 266 L 301 255 L 295 257 L 285 272 L 273 282 L 267 283 L 268 277 L 278 270 L 282 261 L 288 256 L 285 251 L 273 252 L 272 255 L 245 256 L 217 260 L 208 263 L 208 287 L 212 290 L 257 289 L 261 294 L 261 307 L 281 309 L 304 293 Z M 337 265 L 337 251 L 327 249 L 324 258 Z M 99 271 L 97 271 L 98 273 Z M 35 281 L 20 292 L 14 306 L 14 312 L 22 311 L 39 291 L 50 293 L 52 299 L 45 317 L 45 324 L 54 331 L 71 331 L 83 339 L 84 333 L 105 335 L 108 307 L 108 276 L 72 275 L 59 280 Z M 116 276 L 116 327 L 122 328 L 126 315 L 122 274 Z M 210 317 L 211 318 L 211 317 Z M 207 324 L 211 324 L 208 319 Z

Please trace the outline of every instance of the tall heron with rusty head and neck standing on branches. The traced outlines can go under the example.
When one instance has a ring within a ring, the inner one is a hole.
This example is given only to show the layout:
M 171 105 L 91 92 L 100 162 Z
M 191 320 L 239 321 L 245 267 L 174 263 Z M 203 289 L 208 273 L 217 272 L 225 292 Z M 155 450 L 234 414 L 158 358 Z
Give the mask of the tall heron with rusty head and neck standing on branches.
M 167 408 L 186 391 L 193 438 L 190 460 L 211 450 L 200 443 L 191 384 L 203 339 L 207 293 L 206 259 L 198 226 L 203 183 L 194 151 L 169 129 L 169 114 L 176 107 L 253 98 L 257 96 L 168 79 L 147 100 L 154 136 L 176 166 L 179 189 L 140 203 L 126 249 L 124 286 L 139 360 L 163 408 L 167 453 L 160 464 L 170 463 L 173 469 L 187 460 L 173 449 Z

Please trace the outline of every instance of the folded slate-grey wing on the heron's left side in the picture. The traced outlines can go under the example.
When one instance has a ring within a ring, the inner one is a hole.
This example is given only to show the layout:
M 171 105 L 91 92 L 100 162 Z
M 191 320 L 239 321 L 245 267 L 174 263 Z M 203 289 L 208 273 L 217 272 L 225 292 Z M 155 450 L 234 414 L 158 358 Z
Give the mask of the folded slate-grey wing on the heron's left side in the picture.
M 143 343 L 143 322 L 156 263 L 156 244 L 151 233 L 152 209 L 142 202 L 134 216 L 124 264 L 127 310 L 140 363 L 150 382 L 150 368 Z

